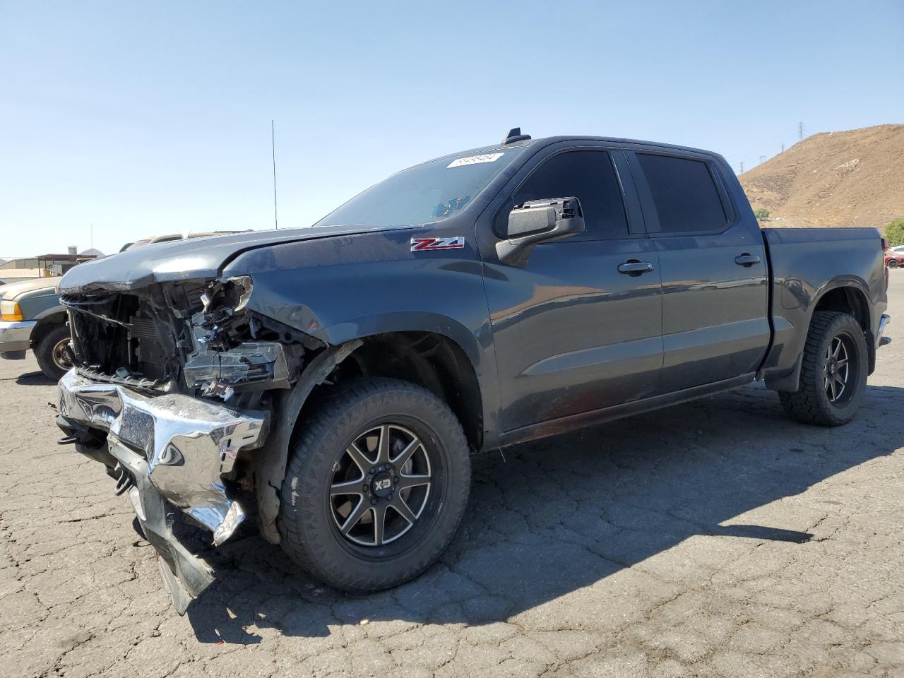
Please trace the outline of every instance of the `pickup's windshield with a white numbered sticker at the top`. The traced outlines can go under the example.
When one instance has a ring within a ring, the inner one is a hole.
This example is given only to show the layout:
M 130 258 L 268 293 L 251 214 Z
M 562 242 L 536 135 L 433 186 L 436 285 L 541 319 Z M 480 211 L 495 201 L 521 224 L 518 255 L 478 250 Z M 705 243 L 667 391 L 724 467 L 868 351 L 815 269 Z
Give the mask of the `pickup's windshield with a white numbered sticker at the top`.
M 523 148 L 446 157 L 416 165 L 374 184 L 315 226 L 403 226 L 461 212 Z

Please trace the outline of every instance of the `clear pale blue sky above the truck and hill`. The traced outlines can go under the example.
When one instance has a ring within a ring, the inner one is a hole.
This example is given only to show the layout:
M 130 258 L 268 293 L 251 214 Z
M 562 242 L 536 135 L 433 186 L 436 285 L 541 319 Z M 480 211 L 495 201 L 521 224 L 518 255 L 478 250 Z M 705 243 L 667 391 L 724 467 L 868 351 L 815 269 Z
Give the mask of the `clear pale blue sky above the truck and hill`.
M 0 2 L 0 257 L 306 226 L 392 172 L 592 134 L 736 169 L 904 122 L 904 3 Z

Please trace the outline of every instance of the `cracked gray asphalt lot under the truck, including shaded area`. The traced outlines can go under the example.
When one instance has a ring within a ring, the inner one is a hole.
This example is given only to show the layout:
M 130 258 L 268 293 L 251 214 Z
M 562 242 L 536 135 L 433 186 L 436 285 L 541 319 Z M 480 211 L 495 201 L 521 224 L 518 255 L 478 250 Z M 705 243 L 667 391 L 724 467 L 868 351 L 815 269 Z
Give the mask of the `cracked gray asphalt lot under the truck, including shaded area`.
M 479 457 L 452 547 L 379 595 L 186 527 L 220 579 L 185 617 L 54 385 L 0 361 L 0 676 L 904 676 L 896 322 L 844 428 L 753 385 Z

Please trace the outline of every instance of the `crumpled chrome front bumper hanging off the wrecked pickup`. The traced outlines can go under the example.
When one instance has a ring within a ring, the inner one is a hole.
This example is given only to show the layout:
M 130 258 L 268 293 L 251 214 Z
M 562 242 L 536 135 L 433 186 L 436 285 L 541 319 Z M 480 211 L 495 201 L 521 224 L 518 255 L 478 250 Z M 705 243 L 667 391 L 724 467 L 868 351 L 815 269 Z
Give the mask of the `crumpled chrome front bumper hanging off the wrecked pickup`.
M 213 532 L 214 545 L 229 539 L 245 513 L 227 496 L 221 476 L 231 472 L 241 449 L 263 443 L 266 415 L 176 393 L 148 397 L 89 381 L 74 369 L 63 375 L 59 389 L 58 423 L 64 431 L 107 431 L 108 453 L 128 476 L 120 478 L 120 486 L 127 487 L 138 523 L 159 555 L 166 589 L 183 614 L 213 576 L 176 540 L 166 503 Z

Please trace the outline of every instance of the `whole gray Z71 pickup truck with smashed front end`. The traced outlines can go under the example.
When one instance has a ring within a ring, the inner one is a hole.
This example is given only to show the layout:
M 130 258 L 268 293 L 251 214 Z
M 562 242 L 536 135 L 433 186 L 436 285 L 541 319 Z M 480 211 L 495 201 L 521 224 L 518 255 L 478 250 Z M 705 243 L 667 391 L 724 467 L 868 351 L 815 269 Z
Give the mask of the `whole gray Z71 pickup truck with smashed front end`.
M 720 155 L 513 130 L 313 228 L 74 268 L 57 421 L 129 494 L 180 612 L 212 570 L 170 505 L 214 544 L 253 515 L 328 585 L 384 589 L 446 548 L 473 452 L 754 380 L 796 419 L 852 419 L 882 249 L 761 230 Z

